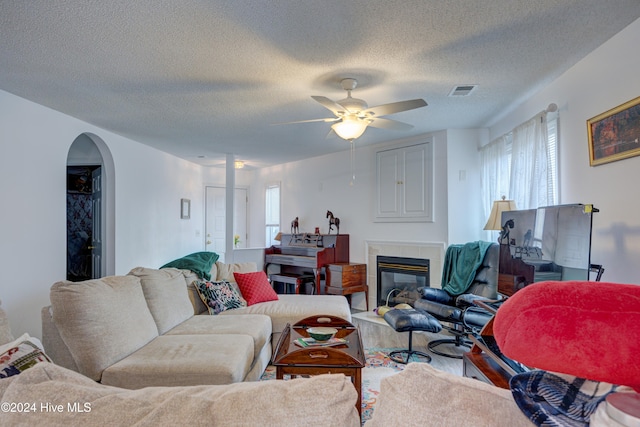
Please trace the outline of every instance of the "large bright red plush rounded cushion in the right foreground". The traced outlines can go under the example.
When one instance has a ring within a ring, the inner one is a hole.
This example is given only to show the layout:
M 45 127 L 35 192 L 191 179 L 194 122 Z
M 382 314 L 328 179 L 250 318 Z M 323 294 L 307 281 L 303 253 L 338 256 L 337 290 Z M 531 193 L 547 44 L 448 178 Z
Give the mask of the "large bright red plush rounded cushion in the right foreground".
M 500 350 L 527 366 L 640 391 L 640 286 L 539 282 L 498 310 Z

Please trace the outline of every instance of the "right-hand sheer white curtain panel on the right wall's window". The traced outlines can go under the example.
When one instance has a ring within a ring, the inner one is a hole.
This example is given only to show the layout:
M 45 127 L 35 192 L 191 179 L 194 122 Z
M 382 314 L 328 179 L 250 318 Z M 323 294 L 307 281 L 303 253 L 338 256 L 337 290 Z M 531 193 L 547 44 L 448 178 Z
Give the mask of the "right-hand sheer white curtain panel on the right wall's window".
M 518 209 L 548 206 L 546 113 L 538 114 L 513 130 L 509 196 Z

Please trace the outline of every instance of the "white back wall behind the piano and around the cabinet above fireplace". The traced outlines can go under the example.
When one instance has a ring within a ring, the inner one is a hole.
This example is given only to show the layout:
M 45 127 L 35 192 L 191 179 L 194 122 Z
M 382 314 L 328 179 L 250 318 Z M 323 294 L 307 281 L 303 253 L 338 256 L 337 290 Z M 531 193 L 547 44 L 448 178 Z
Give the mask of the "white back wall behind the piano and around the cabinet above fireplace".
M 425 137 L 403 139 L 376 146 L 358 146 L 356 141 L 354 185 L 351 179 L 347 142 L 345 149 L 322 157 L 288 163 L 256 171 L 252 187 L 262 189 L 269 182 L 282 183 L 282 227 L 296 216 L 300 231 L 328 231 L 326 212 L 340 218 L 340 233 L 350 235 L 350 259 L 365 262 L 365 241 L 446 242 L 447 241 L 447 140 L 445 132 L 434 141 L 434 221 L 411 223 L 374 222 L 375 153 L 381 147 L 405 142 L 422 142 Z M 477 150 L 474 145 L 473 150 Z M 264 206 L 264 197 L 258 200 Z M 256 204 L 257 204 L 256 203 Z M 262 212 L 261 212 L 262 214 Z M 262 215 L 264 216 L 264 215 Z M 254 218 L 255 227 L 264 227 L 264 218 Z M 262 241 L 261 243 L 263 243 Z

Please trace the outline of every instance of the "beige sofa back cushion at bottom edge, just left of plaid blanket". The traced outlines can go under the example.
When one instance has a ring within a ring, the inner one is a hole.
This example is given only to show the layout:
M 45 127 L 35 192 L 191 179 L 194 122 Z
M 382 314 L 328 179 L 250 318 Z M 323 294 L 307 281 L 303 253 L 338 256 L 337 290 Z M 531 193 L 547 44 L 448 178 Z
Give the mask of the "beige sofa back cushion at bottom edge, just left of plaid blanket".
M 409 363 L 383 378 L 378 404 L 365 427 L 531 427 L 511 392 L 475 379 Z

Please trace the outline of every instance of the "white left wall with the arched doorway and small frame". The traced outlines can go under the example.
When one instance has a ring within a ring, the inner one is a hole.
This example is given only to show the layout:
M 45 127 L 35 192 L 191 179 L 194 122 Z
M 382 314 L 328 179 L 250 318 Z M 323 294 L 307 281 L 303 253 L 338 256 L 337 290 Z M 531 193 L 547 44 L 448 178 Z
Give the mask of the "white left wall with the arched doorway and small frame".
M 202 248 L 202 170 L 190 162 L 0 91 L 0 299 L 15 334 L 40 337 L 40 308 L 66 277 L 67 153 L 90 132 L 116 170 L 115 272 Z M 180 219 L 191 199 L 191 220 Z

